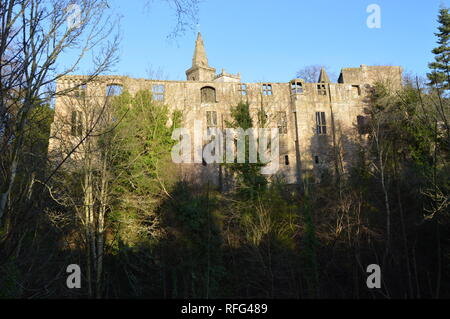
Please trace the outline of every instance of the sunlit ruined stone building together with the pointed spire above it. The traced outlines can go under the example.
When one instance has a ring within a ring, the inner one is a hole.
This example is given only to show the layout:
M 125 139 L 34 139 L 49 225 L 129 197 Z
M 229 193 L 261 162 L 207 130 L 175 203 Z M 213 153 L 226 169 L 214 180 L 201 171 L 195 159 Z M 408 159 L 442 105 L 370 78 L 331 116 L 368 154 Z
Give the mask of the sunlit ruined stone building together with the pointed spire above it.
M 195 120 L 202 119 L 207 127 L 226 128 L 230 110 L 239 102 L 247 102 L 257 123 L 257 114 L 266 114 L 266 127 L 278 128 L 280 133 L 280 166 L 277 173 L 287 183 L 298 183 L 306 172 L 317 173 L 332 165 L 336 149 L 343 169 L 351 165 L 354 144 L 360 137 L 368 89 L 377 81 L 390 81 L 400 87 L 402 69 L 397 66 L 366 66 L 344 68 L 338 83 L 331 83 L 322 69 L 317 83 L 292 79 L 286 83 L 243 83 L 240 74 L 220 74 L 211 67 L 199 33 L 192 66 L 186 71 L 187 81 L 134 79 L 126 76 L 102 76 L 81 87 L 89 96 L 114 95 L 121 88 L 131 94 L 150 90 L 153 99 L 181 110 L 184 127 L 193 129 Z M 65 76 L 57 83 L 61 91 L 85 81 L 83 76 Z M 74 113 L 75 112 L 75 113 Z M 50 150 L 59 147 L 64 134 L 79 125 L 77 113 L 58 98 L 55 119 L 66 119 L 66 130 L 55 120 Z M 60 122 L 60 121 L 59 121 Z M 64 133 L 65 132 L 65 133 Z M 73 135 L 73 134 L 72 134 Z M 331 147 L 335 145 L 336 147 Z M 180 164 L 185 178 L 200 183 L 223 182 L 220 165 Z

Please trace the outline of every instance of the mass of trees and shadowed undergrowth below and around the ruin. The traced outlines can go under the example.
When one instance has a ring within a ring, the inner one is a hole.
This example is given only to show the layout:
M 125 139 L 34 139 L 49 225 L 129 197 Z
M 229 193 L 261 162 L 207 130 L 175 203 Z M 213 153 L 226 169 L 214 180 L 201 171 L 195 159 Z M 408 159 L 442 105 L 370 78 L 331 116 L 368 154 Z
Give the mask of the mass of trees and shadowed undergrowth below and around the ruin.
M 261 163 L 224 164 L 227 191 L 180 180 L 170 152 L 182 114 L 147 91 L 64 92 L 91 124 L 49 154 L 62 120 L 27 83 L 2 77 L 0 297 L 449 298 L 447 9 L 439 22 L 429 83 L 371 87 L 356 138 L 338 134 L 300 185 L 269 180 Z M 2 75 L 16 67 L 3 51 Z M 263 122 L 239 104 L 229 124 Z M 71 264 L 81 289 L 67 288 Z M 367 288 L 371 264 L 380 289 Z

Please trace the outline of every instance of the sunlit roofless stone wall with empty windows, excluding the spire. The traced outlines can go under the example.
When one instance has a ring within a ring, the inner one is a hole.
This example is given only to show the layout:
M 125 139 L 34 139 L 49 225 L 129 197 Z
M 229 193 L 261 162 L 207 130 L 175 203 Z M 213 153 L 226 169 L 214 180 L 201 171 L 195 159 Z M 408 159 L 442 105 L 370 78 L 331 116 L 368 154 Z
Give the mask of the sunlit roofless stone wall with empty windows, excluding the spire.
M 199 81 L 158 81 L 133 79 L 129 77 L 99 77 L 96 82 L 89 83 L 89 96 L 99 99 L 106 95 L 109 84 L 120 84 L 131 94 L 139 90 L 152 90 L 153 85 L 164 86 L 164 103 L 170 110 L 180 110 L 183 114 L 183 127 L 193 135 L 193 123 L 202 120 L 206 128 L 207 112 L 217 114 L 217 126 L 227 127 L 231 120 L 231 108 L 239 102 L 248 102 L 254 125 L 257 124 L 258 111 L 264 110 L 267 115 L 267 128 L 277 128 L 279 112 L 287 117 L 287 132 L 280 135 L 280 170 L 288 183 L 297 183 L 300 174 L 305 171 L 318 171 L 329 166 L 335 158 L 334 144 L 339 145 L 344 165 L 349 165 L 353 158 L 357 139 L 357 117 L 364 115 L 364 98 L 368 85 L 380 76 L 389 77 L 397 85 L 401 85 L 401 69 L 398 67 L 364 67 L 343 69 L 341 82 L 344 83 L 303 83 L 303 92 L 293 92 L 289 83 L 243 83 L 234 82 L 199 82 Z M 74 86 L 82 81 L 82 77 L 64 77 L 58 82 L 58 90 Z M 270 85 L 270 92 L 263 93 L 263 85 Z M 215 101 L 202 102 L 202 88 L 215 90 Z M 322 89 L 322 90 L 320 90 Z M 323 91 L 325 89 L 325 93 Z M 99 103 L 97 103 L 99 104 Z M 324 112 L 327 134 L 318 135 L 316 128 L 316 112 Z M 55 105 L 55 123 L 52 134 L 58 138 L 50 141 L 50 149 L 58 147 L 64 140 L 66 131 L 61 130 L 61 119 L 66 118 L 70 124 L 70 108 L 62 97 Z M 334 132 L 332 131 L 334 127 Z M 186 178 L 199 183 L 220 182 L 218 165 L 182 164 L 180 171 Z M 222 176 L 223 178 L 223 176 Z

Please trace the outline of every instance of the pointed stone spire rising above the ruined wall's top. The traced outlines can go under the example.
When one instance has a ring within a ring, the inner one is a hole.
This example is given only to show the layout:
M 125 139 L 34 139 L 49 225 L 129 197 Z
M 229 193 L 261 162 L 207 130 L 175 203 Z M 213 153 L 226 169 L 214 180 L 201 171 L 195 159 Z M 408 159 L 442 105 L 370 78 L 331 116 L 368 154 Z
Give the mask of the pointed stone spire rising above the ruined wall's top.
M 213 81 L 216 76 L 216 69 L 208 65 L 205 45 L 202 35 L 199 32 L 195 42 L 194 57 L 192 58 L 192 67 L 186 71 L 188 81 Z

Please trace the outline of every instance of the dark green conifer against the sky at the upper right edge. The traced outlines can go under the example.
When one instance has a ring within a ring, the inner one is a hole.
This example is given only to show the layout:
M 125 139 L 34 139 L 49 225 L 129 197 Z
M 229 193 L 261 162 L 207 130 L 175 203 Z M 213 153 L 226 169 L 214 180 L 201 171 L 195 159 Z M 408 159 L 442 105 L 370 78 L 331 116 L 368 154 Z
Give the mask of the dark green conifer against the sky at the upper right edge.
M 430 85 L 442 88 L 444 90 L 450 89 L 450 14 L 449 9 L 442 7 L 439 10 L 439 27 L 437 43 L 439 46 L 433 49 L 435 54 L 435 62 L 428 65 L 431 73 L 428 73 Z

